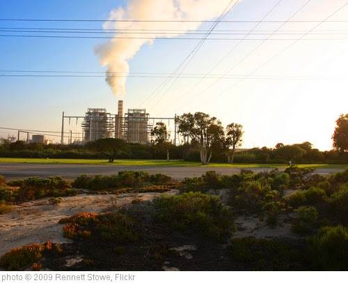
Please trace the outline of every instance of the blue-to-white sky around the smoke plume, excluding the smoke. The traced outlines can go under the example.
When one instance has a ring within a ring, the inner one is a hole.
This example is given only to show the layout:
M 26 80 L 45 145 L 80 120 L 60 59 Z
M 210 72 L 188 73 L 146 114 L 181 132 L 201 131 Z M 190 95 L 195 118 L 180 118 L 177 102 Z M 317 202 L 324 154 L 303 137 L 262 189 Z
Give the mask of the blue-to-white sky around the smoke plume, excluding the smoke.
M 306 1 L 283 0 L 267 20 L 284 20 Z M 224 20 L 260 20 L 277 2 L 243 0 Z M 346 2 L 312 0 L 296 20 L 323 20 Z M 126 9 L 127 1 L 0 1 L 0 18 L 104 20 L 113 8 L 120 6 Z M 348 8 L 345 7 L 332 19 L 347 19 L 347 15 Z M 102 29 L 102 24 L 0 22 L 2 28 Z M 210 25 L 202 24 L 199 29 L 207 29 Z M 277 24 L 262 24 L 258 29 L 275 30 L 277 27 Z M 294 23 L 284 29 L 308 31 L 312 27 L 313 23 Z M 252 28 L 251 23 L 219 24 L 216 27 L 219 30 Z M 348 30 L 348 24 L 325 23 L 318 29 Z M 4 33 L 0 31 L 0 34 Z M 95 45 L 102 42 L 102 39 L 0 37 L 0 70 L 104 71 L 93 52 Z M 258 40 L 245 40 L 214 73 L 223 74 L 259 43 Z M 252 72 L 290 43 L 289 40 L 267 41 L 231 73 L 244 75 Z M 130 72 L 173 72 L 196 44 L 196 40 L 155 40 L 152 45 L 145 44 L 129 60 Z M 232 40 L 206 40 L 184 72 L 207 73 L 236 44 Z M 177 79 L 165 95 L 158 95 L 163 96 L 159 102 L 155 99 L 149 105 L 141 105 L 163 79 L 129 77 L 125 108 L 146 106 L 150 116 L 202 111 L 220 118 L 224 125 L 242 123 L 246 148 L 309 141 L 319 149 L 330 150 L 335 120 L 340 114 L 347 113 L 347 47 L 348 40 L 299 40 L 255 72 L 255 75 L 331 79 L 245 79 L 236 86 L 232 86 L 235 80 L 221 79 L 207 91 L 205 89 L 214 79 L 205 79 L 179 101 L 198 79 Z M 230 86 L 232 88 L 228 89 Z M 225 89 L 228 91 L 219 94 Z M 0 77 L 0 98 L 0 127 L 57 131 L 61 127 L 63 111 L 70 115 L 84 115 L 88 107 L 106 107 L 109 112 L 116 113 L 118 100 L 104 82 L 104 77 Z M 0 136 L 7 135 L 8 131 L 0 130 Z

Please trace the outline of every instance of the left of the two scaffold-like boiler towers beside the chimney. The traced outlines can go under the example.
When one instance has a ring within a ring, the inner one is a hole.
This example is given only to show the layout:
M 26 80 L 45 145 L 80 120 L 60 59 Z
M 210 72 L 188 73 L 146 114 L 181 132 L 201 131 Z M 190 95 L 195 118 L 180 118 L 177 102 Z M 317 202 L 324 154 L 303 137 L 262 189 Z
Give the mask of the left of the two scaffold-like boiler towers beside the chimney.
M 81 125 L 84 130 L 84 142 L 113 137 L 114 118 L 105 108 L 88 108 Z

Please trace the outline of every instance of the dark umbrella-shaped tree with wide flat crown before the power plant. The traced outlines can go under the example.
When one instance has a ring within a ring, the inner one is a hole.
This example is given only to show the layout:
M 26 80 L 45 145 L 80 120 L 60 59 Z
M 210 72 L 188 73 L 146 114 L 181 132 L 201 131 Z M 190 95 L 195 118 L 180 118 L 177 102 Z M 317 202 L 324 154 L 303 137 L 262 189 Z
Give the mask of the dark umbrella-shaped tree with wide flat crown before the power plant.
M 97 153 L 109 158 L 109 162 L 113 162 L 118 153 L 127 149 L 127 142 L 123 139 L 97 139 L 95 142 L 88 142 L 87 148 L 92 151 L 97 151 Z

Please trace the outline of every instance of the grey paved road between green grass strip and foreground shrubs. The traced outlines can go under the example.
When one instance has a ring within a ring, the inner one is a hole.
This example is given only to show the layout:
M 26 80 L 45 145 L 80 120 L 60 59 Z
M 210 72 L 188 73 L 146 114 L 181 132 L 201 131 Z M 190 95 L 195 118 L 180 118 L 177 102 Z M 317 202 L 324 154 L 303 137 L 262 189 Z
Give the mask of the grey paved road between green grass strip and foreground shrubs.
M 113 165 L 65 165 L 65 164 L 31 164 L 31 163 L 0 163 L 0 175 L 8 180 L 27 178 L 31 176 L 62 176 L 65 179 L 73 179 L 81 174 L 87 175 L 111 175 L 118 174 L 122 170 L 146 171 L 150 174 L 162 173 L 171 176 L 173 180 L 180 181 L 185 177 L 200 176 L 206 171 L 214 170 L 220 174 L 233 174 L 242 168 L 228 167 L 163 167 L 163 166 L 113 166 Z M 266 171 L 274 168 L 244 168 L 255 172 Z M 280 171 L 284 170 L 280 169 Z M 333 174 L 345 169 L 317 169 L 322 175 Z

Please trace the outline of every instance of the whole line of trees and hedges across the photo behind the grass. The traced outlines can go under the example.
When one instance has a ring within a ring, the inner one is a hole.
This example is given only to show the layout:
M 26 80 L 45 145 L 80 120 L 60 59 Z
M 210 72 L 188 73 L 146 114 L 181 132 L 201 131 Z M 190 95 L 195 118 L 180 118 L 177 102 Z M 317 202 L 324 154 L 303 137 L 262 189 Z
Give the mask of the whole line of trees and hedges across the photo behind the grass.
M 165 123 L 158 122 L 150 132 L 151 143 L 128 144 L 121 139 L 100 139 L 85 145 L 26 144 L 0 141 L 0 157 L 12 158 L 107 158 L 121 159 L 179 159 L 201 162 L 237 163 L 347 163 L 348 114 L 336 121 L 333 150 L 319 151 L 310 142 L 301 144 L 278 143 L 274 148 L 239 149 L 242 146 L 243 126 L 239 123 L 223 125 L 216 117 L 203 112 L 177 116 L 177 130 L 182 144 L 174 146 Z

